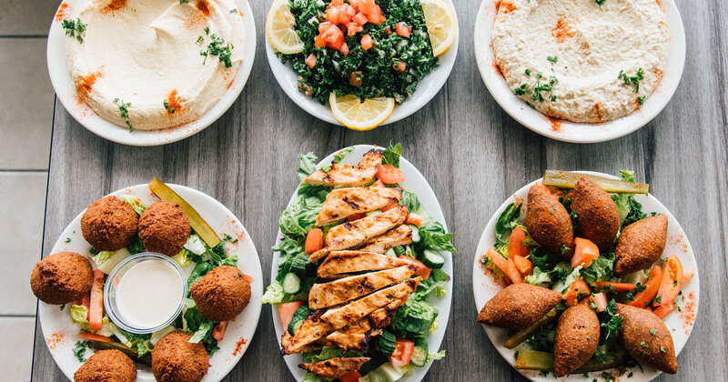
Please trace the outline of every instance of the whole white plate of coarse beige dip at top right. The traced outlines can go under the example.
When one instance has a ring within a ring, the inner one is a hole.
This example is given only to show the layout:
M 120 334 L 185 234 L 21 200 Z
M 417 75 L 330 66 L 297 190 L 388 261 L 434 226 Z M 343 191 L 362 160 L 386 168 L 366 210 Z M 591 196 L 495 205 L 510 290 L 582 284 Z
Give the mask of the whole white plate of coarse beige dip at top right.
M 474 34 L 490 95 L 521 125 L 565 142 L 649 123 L 685 61 L 672 0 L 484 0 Z

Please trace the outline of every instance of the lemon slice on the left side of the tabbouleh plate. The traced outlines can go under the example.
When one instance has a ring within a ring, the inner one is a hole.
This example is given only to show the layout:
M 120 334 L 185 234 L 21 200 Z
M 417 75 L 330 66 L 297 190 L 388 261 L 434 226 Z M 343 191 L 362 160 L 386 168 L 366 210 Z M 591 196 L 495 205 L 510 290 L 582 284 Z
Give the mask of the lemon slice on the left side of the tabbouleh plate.
M 294 26 L 296 17 L 290 13 L 288 0 L 277 0 L 270 5 L 266 19 L 266 35 L 274 49 L 284 55 L 303 52 L 303 41 Z

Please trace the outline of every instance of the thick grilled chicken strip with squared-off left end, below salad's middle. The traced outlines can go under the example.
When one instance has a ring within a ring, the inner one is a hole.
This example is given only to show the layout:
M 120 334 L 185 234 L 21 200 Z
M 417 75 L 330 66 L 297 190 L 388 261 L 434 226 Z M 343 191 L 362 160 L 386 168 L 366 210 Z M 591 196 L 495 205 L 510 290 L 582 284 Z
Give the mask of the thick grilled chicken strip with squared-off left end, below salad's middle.
M 314 284 L 308 292 L 308 307 L 315 310 L 343 304 L 412 275 L 414 266 L 399 266 L 365 275 L 339 278 L 325 284 Z

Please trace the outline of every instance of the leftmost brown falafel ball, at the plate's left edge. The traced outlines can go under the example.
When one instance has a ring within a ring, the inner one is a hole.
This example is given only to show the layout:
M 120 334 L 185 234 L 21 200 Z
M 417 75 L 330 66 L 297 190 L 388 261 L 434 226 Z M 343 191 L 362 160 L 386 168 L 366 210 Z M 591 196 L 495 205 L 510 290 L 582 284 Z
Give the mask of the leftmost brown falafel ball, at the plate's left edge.
M 75 252 L 58 252 L 35 264 L 30 288 L 46 304 L 77 301 L 91 290 L 94 273 L 86 257 Z

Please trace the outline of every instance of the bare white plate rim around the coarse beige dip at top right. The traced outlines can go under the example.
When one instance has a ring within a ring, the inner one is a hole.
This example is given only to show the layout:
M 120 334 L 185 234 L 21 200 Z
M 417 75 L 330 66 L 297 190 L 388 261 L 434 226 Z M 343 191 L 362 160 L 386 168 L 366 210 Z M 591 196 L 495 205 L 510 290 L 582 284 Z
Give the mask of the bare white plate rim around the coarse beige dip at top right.
M 495 56 L 490 41 L 496 8 L 500 0 L 483 0 L 475 20 L 475 59 L 480 75 L 488 87 L 490 95 L 513 119 L 532 131 L 563 142 L 594 143 L 604 142 L 626 136 L 647 125 L 657 116 L 672 98 L 680 83 L 682 67 L 685 64 L 685 31 L 682 19 L 673 0 L 662 0 L 662 9 L 670 29 L 670 57 L 667 60 L 660 85 L 647 97 L 644 105 L 629 116 L 599 124 L 580 124 L 554 119 L 531 109 L 521 98 L 513 95 L 495 64 Z

